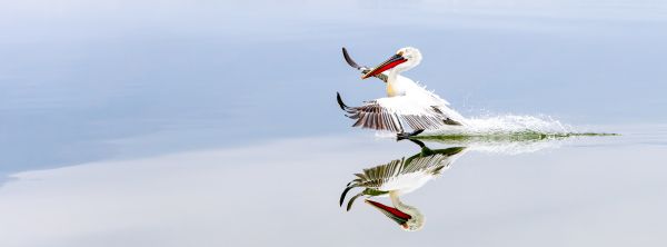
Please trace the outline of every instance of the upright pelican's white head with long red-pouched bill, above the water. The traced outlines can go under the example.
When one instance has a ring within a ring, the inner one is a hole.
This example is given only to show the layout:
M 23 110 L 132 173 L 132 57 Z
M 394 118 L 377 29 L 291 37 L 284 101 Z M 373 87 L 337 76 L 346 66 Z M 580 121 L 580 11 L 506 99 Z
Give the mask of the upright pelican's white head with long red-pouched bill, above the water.
M 398 51 L 396 51 L 396 55 L 391 56 L 385 62 L 380 63 L 375 69 L 361 76 L 361 79 L 379 75 L 390 69 L 397 72 L 402 72 L 415 68 L 417 65 L 419 65 L 419 62 L 421 62 L 421 52 L 419 52 L 417 48 L 405 47 L 398 49 Z

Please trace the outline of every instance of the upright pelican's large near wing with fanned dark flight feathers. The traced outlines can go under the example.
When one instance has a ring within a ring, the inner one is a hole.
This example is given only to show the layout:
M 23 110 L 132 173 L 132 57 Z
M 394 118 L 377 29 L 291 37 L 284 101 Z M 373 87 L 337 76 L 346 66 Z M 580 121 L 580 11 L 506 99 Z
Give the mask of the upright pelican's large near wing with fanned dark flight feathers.
M 408 96 L 380 98 L 366 102 L 360 107 L 346 106 L 340 95 L 337 96 L 340 108 L 348 112 L 347 117 L 356 119 L 352 127 L 402 132 L 407 124 L 410 128 L 438 129 L 447 125 L 460 125 L 451 119 L 440 106 Z

